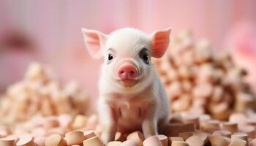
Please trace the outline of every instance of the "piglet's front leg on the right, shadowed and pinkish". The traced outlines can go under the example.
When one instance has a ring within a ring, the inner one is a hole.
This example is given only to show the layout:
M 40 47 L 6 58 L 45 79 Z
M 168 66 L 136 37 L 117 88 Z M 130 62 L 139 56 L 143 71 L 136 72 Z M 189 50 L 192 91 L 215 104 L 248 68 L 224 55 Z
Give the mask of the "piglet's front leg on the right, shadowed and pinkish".
M 154 118 L 156 113 L 155 105 L 151 105 L 145 112 L 142 123 L 142 130 L 145 138 L 151 137 L 157 134 L 157 121 Z

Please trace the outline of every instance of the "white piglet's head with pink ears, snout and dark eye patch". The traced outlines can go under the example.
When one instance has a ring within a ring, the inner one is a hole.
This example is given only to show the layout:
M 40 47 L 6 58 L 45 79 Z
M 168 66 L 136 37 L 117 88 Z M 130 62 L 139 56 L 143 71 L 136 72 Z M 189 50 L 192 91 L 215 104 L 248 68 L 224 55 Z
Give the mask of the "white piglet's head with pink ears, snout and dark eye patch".
M 82 29 L 92 58 L 105 58 L 102 78 L 119 88 L 146 87 L 154 79 L 151 57 L 161 58 L 170 41 L 170 28 L 147 35 L 122 28 L 106 35 Z

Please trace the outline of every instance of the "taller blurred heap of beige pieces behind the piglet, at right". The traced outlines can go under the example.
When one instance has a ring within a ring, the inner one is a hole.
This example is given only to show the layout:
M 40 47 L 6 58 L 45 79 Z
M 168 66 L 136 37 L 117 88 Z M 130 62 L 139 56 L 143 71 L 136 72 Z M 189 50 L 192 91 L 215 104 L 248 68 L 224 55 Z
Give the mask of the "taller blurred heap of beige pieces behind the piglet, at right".
M 227 120 L 233 112 L 255 110 L 255 95 L 229 53 L 216 53 L 189 31 L 173 38 L 170 53 L 154 61 L 170 98 L 171 112 L 208 113 Z

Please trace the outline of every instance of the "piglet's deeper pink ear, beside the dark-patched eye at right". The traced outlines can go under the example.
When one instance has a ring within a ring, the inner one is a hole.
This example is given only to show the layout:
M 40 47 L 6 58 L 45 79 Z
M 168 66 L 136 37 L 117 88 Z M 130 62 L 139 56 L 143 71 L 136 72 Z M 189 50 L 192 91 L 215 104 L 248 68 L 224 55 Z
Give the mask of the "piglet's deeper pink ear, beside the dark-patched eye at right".
M 163 31 L 155 31 L 151 34 L 152 56 L 161 58 L 165 54 L 165 50 L 169 46 L 171 28 Z

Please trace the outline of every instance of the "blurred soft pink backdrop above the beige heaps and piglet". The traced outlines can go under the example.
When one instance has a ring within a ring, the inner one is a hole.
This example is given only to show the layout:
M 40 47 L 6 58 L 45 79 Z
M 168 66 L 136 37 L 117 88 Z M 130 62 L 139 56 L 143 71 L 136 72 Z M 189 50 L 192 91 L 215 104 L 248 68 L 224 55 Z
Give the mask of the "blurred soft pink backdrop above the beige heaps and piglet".
M 83 44 L 81 28 L 110 33 L 134 27 L 151 33 L 173 27 L 191 29 L 216 50 L 230 50 L 249 70 L 256 88 L 256 1 L 254 0 L 1 0 L 0 92 L 23 78 L 28 64 L 49 64 L 60 80 L 77 80 L 97 96 L 102 60 L 93 60 Z

